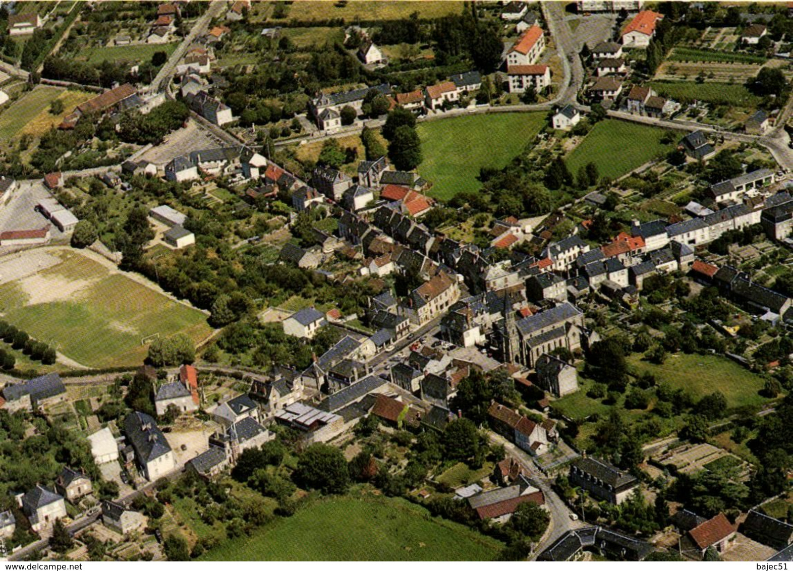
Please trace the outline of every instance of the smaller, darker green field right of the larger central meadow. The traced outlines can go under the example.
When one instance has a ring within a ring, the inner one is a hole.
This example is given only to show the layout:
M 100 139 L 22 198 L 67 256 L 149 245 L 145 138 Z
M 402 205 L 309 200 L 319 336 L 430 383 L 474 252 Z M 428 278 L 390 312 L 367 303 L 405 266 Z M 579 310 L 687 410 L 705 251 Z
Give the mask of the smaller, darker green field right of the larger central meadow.
M 671 151 L 675 144 L 661 144 L 665 130 L 610 119 L 600 121 L 567 155 L 573 176 L 580 167 L 595 163 L 601 177 L 619 178 L 647 161 Z

